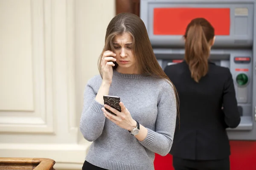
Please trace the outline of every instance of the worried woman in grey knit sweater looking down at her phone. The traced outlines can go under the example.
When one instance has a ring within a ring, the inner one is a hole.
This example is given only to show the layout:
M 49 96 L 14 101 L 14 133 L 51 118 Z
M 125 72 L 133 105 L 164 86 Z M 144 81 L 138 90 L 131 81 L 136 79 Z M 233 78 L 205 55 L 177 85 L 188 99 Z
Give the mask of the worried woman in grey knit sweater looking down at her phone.
M 140 17 L 111 20 L 99 72 L 84 91 L 80 129 L 93 143 L 83 170 L 154 170 L 155 153 L 165 156 L 172 147 L 177 102 Z M 105 95 L 120 97 L 122 111 L 104 105 Z

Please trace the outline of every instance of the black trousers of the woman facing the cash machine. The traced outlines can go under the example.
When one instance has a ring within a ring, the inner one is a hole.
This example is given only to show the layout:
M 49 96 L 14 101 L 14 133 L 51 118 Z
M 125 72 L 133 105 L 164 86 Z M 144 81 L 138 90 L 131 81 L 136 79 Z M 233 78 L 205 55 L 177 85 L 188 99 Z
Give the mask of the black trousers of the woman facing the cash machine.
M 230 170 L 230 159 L 199 161 L 181 159 L 173 156 L 172 164 L 175 170 Z

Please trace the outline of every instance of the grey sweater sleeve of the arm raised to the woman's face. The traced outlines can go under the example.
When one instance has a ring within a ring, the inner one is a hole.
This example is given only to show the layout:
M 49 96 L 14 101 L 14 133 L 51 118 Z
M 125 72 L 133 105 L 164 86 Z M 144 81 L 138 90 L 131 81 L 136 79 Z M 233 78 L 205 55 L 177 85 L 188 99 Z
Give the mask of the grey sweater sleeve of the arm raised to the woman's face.
M 97 92 L 93 89 L 96 87 L 96 78 L 92 78 L 87 82 L 84 90 L 84 103 L 80 119 L 80 130 L 89 142 L 95 141 L 102 134 L 105 125 L 105 116 L 101 105 L 95 100 Z

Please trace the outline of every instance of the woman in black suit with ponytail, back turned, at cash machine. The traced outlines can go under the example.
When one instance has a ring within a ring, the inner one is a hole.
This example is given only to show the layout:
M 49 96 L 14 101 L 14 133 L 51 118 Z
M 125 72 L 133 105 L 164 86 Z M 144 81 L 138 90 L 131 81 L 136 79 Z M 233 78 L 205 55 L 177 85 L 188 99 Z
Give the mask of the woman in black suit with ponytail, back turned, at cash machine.
M 215 35 L 206 19 L 192 20 L 184 39 L 185 61 L 165 68 L 180 99 L 180 123 L 170 152 L 173 166 L 175 170 L 229 170 L 226 128 L 240 123 L 232 75 L 228 68 L 208 60 Z

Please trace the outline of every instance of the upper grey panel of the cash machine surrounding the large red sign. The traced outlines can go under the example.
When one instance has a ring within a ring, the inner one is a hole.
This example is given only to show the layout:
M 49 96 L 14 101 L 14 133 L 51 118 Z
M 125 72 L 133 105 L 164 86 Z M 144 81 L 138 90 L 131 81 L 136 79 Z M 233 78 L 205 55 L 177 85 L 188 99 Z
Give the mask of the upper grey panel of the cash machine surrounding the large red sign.
M 254 0 L 141 0 L 140 17 L 145 23 L 153 47 L 174 48 L 183 46 L 182 35 L 154 35 L 154 8 L 230 8 L 230 35 L 216 36 L 214 48 L 252 47 L 253 3 Z

